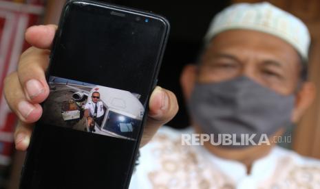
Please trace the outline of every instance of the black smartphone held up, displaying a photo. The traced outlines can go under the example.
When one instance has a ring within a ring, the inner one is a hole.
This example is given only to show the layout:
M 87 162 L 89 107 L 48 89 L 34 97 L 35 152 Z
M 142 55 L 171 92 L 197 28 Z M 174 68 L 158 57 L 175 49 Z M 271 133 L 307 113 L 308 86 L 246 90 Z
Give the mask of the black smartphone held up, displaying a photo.
M 128 188 L 169 34 L 157 14 L 68 1 L 20 188 Z

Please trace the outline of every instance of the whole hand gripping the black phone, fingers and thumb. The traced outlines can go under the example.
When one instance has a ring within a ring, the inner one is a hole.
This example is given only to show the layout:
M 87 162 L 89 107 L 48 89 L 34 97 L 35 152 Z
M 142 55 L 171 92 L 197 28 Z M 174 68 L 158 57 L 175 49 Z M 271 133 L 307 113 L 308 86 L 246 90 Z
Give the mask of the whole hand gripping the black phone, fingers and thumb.
M 11 110 L 19 117 L 14 133 L 16 149 L 28 148 L 33 123 L 42 114 L 39 103 L 49 95 L 45 70 L 49 63 L 50 48 L 56 25 L 32 26 L 25 32 L 25 40 L 32 47 L 23 52 L 18 70 L 6 77 L 4 93 Z M 178 112 L 177 99 L 173 92 L 156 87 L 149 101 L 149 115 L 142 136 L 141 146 L 147 144 L 161 125 Z

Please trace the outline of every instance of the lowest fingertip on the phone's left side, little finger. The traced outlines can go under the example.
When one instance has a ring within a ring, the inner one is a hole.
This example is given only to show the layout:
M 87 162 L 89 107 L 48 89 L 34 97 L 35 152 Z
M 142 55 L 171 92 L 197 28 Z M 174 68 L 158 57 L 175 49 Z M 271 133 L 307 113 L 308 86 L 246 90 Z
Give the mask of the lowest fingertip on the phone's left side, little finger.
M 17 150 L 25 151 L 30 144 L 32 134 L 32 124 L 27 124 L 19 121 L 14 132 L 14 143 Z

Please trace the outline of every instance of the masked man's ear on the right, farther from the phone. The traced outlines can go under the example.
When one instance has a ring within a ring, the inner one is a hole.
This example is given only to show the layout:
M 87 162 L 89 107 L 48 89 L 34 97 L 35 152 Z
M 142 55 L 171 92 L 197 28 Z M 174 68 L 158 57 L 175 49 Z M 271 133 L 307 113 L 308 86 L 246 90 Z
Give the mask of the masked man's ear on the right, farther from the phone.
M 297 123 L 304 112 L 312 104 L 316 95 L 316 88 L 313 83 L 306 81 L 301 86 L 301 89 L 297 93 L 295 100 L 295 109 L 292 112 L 291 121 Z

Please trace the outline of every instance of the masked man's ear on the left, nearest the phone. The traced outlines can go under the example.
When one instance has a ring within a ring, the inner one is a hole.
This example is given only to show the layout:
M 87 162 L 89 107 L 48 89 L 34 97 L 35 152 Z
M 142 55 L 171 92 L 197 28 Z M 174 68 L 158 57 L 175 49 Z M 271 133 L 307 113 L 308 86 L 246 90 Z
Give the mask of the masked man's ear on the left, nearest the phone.
M 197 66 L 195 64 L 187 64 L 184 66 L 180 76 L 180 84 L 182 86 L 182 92 L 186 101 L 190 98 L 193 86 L 197 79 L 196 76 Z

